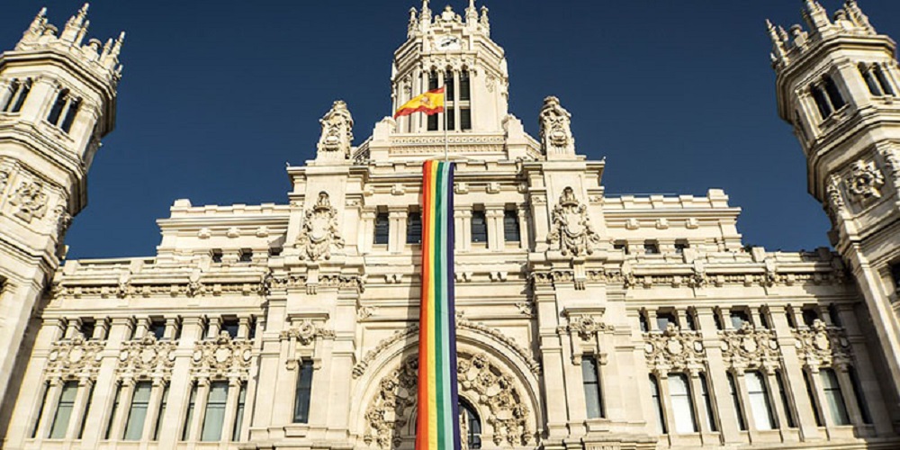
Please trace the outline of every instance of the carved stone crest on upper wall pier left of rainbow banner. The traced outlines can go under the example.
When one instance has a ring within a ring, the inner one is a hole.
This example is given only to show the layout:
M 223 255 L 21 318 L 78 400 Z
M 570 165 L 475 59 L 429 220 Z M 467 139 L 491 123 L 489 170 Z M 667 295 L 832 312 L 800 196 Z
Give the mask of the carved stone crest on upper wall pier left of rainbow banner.
M 332 247 L 344 247 L 344 238 L 338 229 L 338 210 L 331 206 L 328 193 L 320 192 L 319 200 L 306 211 L 297 245 L 304 250 L 301 258 L 308 257 L 311 261 L 323 257 L 331 259 Z

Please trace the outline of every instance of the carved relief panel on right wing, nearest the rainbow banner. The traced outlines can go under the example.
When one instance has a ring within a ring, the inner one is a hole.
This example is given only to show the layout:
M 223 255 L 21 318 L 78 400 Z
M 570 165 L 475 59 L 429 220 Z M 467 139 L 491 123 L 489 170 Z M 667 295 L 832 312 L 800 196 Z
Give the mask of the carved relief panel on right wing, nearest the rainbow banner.
M 662 333 L 644 333 L 647 364 L 659 373 L 703 370 L 706 349 L 698 331 L 681 330 L 670 323 Z

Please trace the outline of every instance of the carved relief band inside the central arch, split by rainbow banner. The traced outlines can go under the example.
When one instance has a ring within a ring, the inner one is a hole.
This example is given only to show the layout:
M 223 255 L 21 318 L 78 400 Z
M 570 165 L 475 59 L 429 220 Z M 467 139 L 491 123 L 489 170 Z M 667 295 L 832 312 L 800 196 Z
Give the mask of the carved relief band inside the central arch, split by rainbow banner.
M 515 387 L 512 375 L 491 365 L 483 354 L 459 355 L 456 365 L 460 397 L 473 401 L 493 428 L 496 446 L 527 446 L 532 432 L 528 427 L 531 411 Z M 379 383 L 374 401 L 365 411 L 367 445 L 380 448 L 399 447 L 404 429 L 410 422 L 416 404 L 419 382 L 418 356 L 409 356 L 400 367 Z

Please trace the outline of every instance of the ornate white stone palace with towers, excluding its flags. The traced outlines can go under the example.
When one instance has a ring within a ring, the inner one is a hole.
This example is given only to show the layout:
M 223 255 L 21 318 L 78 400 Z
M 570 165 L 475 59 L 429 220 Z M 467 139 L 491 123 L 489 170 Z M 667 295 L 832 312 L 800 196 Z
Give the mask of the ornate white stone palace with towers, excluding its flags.
M 336 102 L 283 203 L 158 220 L 157 255 L 62 262 L 123 36 L 43 13 L 0 56 L 4 448 L 412 448 L 422 161 L 443 116 L 353 146 Z M 468 448 L 900 448 L 895 43 L 848 1 L 770 25 L 779 113 L 837 252 L 745 247 L 706 196 L 606 195 L 548 97 L 508 111 L 487 8 L 410 11 L 395 107 L 447 85 Z

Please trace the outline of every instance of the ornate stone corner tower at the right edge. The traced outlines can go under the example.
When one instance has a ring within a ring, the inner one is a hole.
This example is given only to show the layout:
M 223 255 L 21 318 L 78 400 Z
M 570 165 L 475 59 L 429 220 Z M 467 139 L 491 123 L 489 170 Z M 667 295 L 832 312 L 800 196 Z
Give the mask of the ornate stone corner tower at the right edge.
M 809 193 L 865 296 L 900 391 L 900 73 L 896 43 L 854 0 L 829 17 L 806 0 L 807 27 L 769 23 L 779 114 L 806 154 Z

